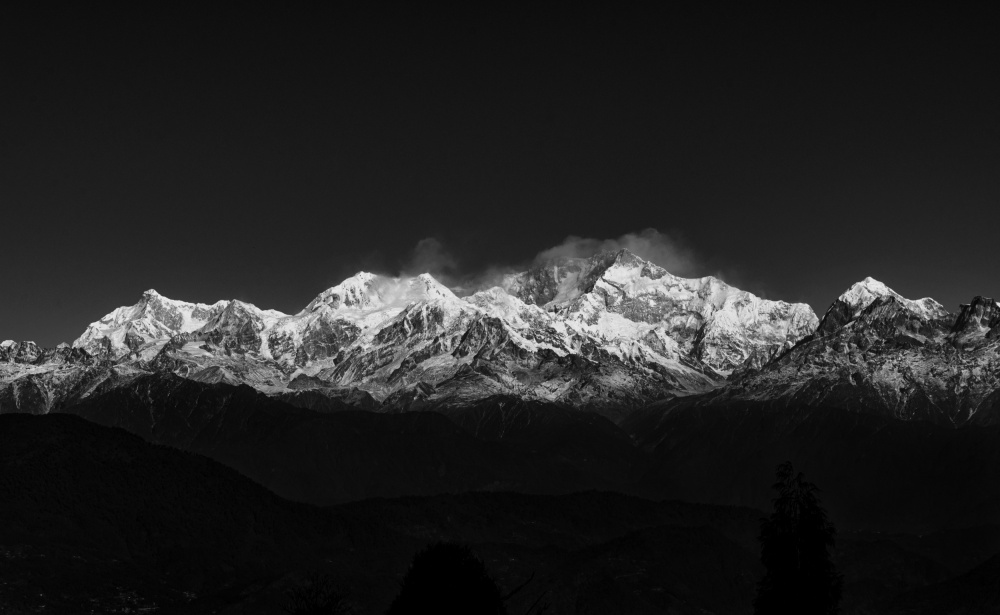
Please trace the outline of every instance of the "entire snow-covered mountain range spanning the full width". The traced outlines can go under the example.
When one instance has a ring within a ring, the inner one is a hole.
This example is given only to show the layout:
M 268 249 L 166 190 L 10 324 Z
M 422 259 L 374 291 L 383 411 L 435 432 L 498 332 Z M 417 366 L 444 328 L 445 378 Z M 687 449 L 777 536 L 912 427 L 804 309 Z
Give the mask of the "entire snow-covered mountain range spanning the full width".
M 742 400 L 990 424 L 998 347 L 1000 307 L 985 297 L 954 314 L 866 278 L 819 319 L 620 250 L 553 259 L 462 297 L 429 274 L 361 272 L 291 315 L 149 290 L 72 344 L 0 344 L 0 412 L 45 413 L 173 373 L 310 408 L 444 409 L 500 395 L 618 422 L 650 404 Z

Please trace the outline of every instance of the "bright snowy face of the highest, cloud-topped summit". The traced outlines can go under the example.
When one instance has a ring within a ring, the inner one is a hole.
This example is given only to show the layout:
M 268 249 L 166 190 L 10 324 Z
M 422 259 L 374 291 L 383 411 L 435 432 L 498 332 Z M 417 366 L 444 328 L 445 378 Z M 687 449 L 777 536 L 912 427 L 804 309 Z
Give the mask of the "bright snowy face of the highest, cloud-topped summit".
M 658 339 L 660 352 L 691 355 L 720 374 L 751 356 L 812 333 L 805 304 L 769 301 L 714 278 L 679 278 L 627 250 L 563 259 L 505 280 L 577 331 L 610 343 Z M 667 348 L 673 340 L 678 349 Z

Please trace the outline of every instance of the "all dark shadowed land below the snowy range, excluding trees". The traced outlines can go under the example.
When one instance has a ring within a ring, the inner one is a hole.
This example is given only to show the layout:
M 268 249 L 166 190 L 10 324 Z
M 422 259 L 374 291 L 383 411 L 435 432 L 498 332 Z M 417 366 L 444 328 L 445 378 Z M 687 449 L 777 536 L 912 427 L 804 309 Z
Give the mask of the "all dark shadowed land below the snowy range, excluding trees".
M 447 541 L 504 592 L 530 579 L 511 613 L 751 613 L 759 524 L 789 459 L 839 530 L 842 612 L 990 612 L 997 440 L 683 400 L 620 426 L 503 397 L 317 412 L 138 379 L 62 413 L 0 415 L 0 605 L 281 613 L 323 578 L 381 613 L 414 554 Z

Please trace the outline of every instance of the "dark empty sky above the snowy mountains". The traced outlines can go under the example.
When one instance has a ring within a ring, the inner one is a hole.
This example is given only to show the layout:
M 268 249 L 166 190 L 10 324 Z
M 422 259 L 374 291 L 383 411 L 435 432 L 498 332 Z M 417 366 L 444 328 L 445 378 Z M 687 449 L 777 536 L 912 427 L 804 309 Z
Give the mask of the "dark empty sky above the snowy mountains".
M 330 4 L 5 13 L 0 339 L 649 228 L 819 312 L 867 275 L 1000 295 L 986 15 Z

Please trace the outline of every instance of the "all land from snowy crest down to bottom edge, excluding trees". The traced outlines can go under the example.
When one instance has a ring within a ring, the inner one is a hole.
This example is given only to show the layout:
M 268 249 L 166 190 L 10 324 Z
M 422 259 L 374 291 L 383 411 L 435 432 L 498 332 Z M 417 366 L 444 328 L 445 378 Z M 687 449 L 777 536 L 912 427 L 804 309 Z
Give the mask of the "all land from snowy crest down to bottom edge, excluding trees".
M 513 612 L 749 613 L 784 461 L 844 536 L 843 612 L 1000 608 L 984 297 L 867 278 L 817 318 L 627 251 L 462 297 L 359 273 L 291 315 L 147 291 L 0 343 L 0 415 L 0 610 L 273 613 L 325 567 L 384 612 L 456 540 L 535 579 Z

